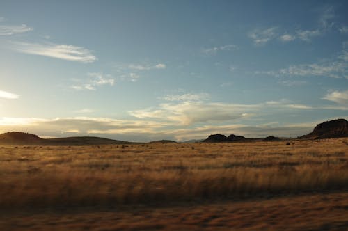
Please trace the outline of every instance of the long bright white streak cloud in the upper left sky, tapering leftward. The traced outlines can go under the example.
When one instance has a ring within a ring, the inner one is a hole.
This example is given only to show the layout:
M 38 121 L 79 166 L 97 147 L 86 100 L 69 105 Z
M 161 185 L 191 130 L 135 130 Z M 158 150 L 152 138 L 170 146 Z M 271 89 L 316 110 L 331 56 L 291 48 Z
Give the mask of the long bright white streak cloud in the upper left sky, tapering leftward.
M 11 48 L 25 54 L 35 54 L 51 58 L 60 58 L 67 61 L 80 63 L 93 63 L 97 60 L 91 51 L 73 45 L 57 45 L 54 43 L 36 44 L 26 42 L 13 42 Z

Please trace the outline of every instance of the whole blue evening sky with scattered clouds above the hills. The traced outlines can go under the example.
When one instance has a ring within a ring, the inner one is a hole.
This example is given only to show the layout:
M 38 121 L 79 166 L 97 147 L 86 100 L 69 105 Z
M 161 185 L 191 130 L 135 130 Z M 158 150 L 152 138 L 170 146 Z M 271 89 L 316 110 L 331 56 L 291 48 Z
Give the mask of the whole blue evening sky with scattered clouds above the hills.
M 0 1 L 0 133 L 296 137 L 348 119 L 347 1 Z

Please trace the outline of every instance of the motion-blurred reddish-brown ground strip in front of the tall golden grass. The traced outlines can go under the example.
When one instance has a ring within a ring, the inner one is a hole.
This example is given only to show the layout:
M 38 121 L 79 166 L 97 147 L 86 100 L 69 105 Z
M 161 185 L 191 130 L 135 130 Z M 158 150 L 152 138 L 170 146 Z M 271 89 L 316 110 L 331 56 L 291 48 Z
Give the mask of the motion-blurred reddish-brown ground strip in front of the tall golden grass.
M 348 193 L 0 214 L 0 230 L 347 230 Z M 2 216 L 1 216 L 2 215 Z

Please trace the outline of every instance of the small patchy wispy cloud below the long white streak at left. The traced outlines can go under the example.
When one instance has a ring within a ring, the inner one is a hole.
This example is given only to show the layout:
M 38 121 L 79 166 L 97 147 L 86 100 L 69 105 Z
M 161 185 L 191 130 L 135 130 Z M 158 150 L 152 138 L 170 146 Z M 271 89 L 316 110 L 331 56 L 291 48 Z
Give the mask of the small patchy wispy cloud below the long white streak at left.
M 103 73 L 98 73 L 98 72 L 93 72 L 93 73 L 87 73 L 88 81 L 85 83 L 79 83 L 71 86 L 72 89 L 74 90 L 96 90 L 97 86 L 102 86 L 102 85 L 109 85 L 113 86 L 113 84 L 116 82 L 113 77 L 111 77 L 110 74 L 103 74 Z M 81 80 L 76 80 L 77 82 L 81 82 Z

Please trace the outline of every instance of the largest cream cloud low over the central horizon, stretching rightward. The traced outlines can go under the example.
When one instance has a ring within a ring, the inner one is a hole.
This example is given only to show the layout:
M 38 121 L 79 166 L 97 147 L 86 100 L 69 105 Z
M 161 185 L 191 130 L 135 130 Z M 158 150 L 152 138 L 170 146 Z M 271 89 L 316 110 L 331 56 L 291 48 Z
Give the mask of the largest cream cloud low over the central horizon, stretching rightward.
M 264 109 L 312 109 L 303 104 L 294 104 L 290 101 L 273 101 L 261 104 L 228 104 L 222 102 L 204 102 L 196 96 L 168 97 L 169 101 L 175 103 L 159 104 L 156 108 L 129 111 L 136 118 L 152 118 L 164 121 L 178 122 L 181 125 L 192 125 L 199 122 L 223 122 L 237 120 L 253 116 L 253 114 Z

